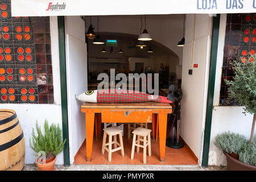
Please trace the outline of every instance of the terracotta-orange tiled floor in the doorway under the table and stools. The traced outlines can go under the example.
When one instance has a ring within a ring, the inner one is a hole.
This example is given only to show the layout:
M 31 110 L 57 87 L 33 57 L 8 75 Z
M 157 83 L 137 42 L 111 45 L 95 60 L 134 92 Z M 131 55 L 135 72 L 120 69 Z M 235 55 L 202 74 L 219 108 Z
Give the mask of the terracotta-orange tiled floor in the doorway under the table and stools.
M 108 139 L 107 139 L 108 140 Z M 123 136 L 123 145 L 125 148 L 125 156 L 121 155 L 121 151 L 116 151 L 112 154 L 112 162 L 108 161 L 108 152 L 104 155 L 101 154 L 102 137 L 101 140 L 93 140 L 92 161 L 86 162 L 86 140 L 82 143 L 79 151 L 77 152 L 74 164 L 143 164 L 143 150 L 140 149 L 139 153 L 134 152 L 134 159 L 131 160 L 131 144 L 133 138 L 128 139 L 126 135 Z M 185 144 L 183 148 L 175 149 L 166 146 L 166 160 L 160 162 L 159 158 L 159 141 L 151 138 L 151 151 L 152 156 L 148 156 L 147 151 L 147 164 L 151 165 L 196 165 L 198 164 L 197 158 L 192 153 L 191 149 Z

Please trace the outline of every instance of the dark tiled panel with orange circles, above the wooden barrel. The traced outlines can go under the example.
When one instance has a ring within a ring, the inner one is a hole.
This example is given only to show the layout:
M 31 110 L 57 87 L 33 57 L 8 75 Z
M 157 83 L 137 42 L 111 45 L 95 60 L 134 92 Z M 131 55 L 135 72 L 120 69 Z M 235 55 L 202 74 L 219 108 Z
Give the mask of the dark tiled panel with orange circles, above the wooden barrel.
M 12 17 L 0 1 L 0 103 L 53 104 L 49 17 Z

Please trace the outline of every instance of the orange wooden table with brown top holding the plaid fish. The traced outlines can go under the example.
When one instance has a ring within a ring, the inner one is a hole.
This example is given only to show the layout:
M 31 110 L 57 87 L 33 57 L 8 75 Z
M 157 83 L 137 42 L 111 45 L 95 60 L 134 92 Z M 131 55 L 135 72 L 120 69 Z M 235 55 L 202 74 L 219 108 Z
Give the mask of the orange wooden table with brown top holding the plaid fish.
M 152 123 L 153 138 L 157 137 L 159 126 L 160 161 L 164 161 L 166 148 L 167 114 L 172 106 L 165 103 L 115 103 L 97 104 L 85 102 L 81 106 L 85 113 L 86 160 L 91 160 L 93 147 L 94 120 L 96 138 L 100 137 L 101 123 Z

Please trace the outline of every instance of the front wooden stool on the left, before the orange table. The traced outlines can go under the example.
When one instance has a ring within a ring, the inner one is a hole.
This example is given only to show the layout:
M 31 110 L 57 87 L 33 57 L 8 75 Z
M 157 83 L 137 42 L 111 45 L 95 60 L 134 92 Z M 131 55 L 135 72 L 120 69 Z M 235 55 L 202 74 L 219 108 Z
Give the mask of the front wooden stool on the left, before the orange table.
M 121 150 L 122 156 L 125 156 L 125 152 L 123 150 L 123 139 L 122 139 L 122 130 L 118 129 L 117 126 L 107 127 L 104 130 L 101 154 L 104 154 L 105 150 L 109 152 L 109 162 L 111 162 L 112 152 Z M 109 135 L 109 143 L 106 143 L 106 135 Z M 119 135 L 119 142 L 117 142 L 117 135 Z M 112 142 L 112 136 L 114 136 L 114 142 Z M 114 148 L 112 148 L 112 144 L 114 144 Z M 119 147 L 117 147 L 117 145 Z M 106 147 L 109 146 L 109 147 Z

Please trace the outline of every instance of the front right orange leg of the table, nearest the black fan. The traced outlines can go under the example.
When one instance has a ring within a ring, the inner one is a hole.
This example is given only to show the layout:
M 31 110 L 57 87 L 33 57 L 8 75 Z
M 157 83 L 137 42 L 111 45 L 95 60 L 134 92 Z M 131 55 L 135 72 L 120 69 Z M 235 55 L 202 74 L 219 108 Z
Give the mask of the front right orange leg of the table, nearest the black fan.
M 158 114 L 158 119 L 159 119 L 160 161 L 164 161 L 165 154 L 166 154 L 167 114 Z

